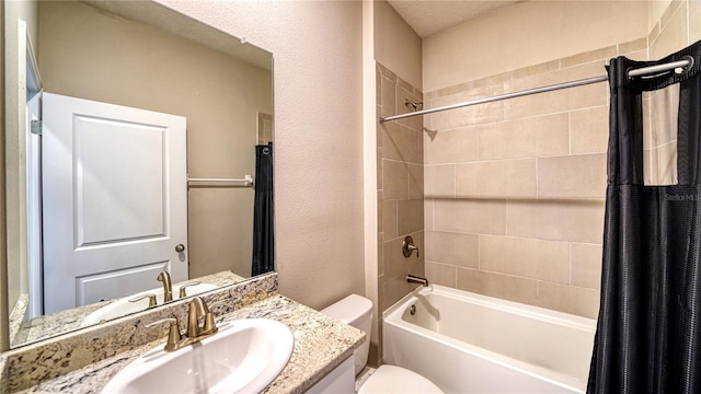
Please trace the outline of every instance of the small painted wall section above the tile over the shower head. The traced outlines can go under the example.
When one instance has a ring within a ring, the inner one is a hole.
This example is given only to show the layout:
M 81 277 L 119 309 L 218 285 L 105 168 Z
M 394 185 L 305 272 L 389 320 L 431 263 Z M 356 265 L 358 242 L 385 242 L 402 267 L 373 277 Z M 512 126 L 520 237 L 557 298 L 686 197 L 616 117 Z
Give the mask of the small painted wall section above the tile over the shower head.
M 375 1 L 375 59 L 413 86 L 422 86 L 422 39 L 386 1 Z

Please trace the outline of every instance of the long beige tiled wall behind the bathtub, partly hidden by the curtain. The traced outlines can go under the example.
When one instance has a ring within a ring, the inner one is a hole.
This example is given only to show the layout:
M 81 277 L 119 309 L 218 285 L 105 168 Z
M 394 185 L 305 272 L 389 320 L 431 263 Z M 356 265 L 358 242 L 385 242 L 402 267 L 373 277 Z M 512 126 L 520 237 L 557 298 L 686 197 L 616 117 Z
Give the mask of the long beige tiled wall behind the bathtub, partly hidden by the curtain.
M 701 36 L 699 2 L 670 3 L 648 37 L 427 92 L 428 107 L 606 74 L 608 59 L 660 58 Z M 650 43 L 650 44 L 648 44 Z M 646 182 L 676 182 L 674 91 L 647 95 Z M 425 116 L 427 277 L 596 317 L 608 85 Z

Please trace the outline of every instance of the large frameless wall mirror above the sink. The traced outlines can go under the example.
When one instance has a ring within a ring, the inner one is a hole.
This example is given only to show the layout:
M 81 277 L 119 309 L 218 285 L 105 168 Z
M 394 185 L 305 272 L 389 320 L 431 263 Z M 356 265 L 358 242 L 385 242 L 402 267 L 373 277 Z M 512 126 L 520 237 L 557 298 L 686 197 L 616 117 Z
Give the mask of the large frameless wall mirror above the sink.
M 161 270 L 177 299 L 274 268 L 272 54 L 151 1 L 3 7 L 10 347 L 161 304 Z

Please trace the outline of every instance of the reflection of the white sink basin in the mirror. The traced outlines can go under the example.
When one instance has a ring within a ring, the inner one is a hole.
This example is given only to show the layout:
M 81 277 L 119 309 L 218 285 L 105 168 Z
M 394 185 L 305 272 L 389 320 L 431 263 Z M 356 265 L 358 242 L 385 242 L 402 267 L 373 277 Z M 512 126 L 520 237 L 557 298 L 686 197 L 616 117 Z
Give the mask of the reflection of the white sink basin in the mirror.
M 217 289 L 218 287 L 216 285 L 211 285 L 211 283 L 199 283 L 199 285 L 194 285 L 194 286 L 188 286 L 186 291 L 187 291 L 187 297 L 191 296 L 195 296 L 195 294 L 199 294 L 203 293 L 205 291 L 209 291 L 209 290 L 214 290 Z M 149 308 L 149 300 L 148 298 L 145 298 L 143 300 L 137 301 L 137 302 L 129 302 L 129 300 L 133 300 L 137 297 L 140 296 L 145 296 L 145 294 L 156 294 L 156 301 L 158 302 L 158 304 L 162 304 L 163 303 L 163 288 L 158 288 L 158 289 L 152 289 L 152 290 L 147 290 L 147 291 L 141 291 L 139 293 L 136 293 L 134 296 L 129 296 L 129 297 L 125 297 L 125 298 L 120 298 L 114 302 L 111 302 L 104 306 L 102 306 L 101 309 L 92 312 L 91 314 L 89 314 L 88 316 L 85 316 L 82 322 L 80 322 L 80 326 L 81 327 L 85 327 L 89 325 L 93 325 L 93 324 L 97 324 L 102 321 L 108 321 L 108 320 L 113 320 L 113 318 L 117 318 L 117 317 L 122 317 L 135 312 L 140 312 L 140 311 L 146 311 Z M 173 286 L 173 300 L 177 299 L 177 296 L 180 294 L 180 285 L 174 285 Z

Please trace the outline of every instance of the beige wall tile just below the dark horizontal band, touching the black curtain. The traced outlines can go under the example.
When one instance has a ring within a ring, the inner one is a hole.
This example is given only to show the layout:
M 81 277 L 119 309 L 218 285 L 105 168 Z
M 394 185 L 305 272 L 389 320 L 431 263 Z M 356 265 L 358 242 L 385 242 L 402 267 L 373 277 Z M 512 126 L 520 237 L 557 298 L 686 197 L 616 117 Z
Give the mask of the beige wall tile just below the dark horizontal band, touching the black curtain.
M 514 200 L 507 202 L 507 235 L 600 243 L 604 200 Z

